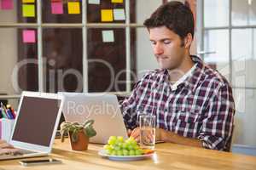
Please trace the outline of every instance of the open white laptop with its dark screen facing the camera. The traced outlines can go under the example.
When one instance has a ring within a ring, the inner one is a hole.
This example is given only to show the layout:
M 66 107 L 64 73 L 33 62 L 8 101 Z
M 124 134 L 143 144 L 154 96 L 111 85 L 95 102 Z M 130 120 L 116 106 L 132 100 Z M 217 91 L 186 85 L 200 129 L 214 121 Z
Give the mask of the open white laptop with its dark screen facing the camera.
M 0 160 L 49 155 L 63 102 L 61 94 L 23 92 L 9 141 L 20 154 L 1 155 Z

